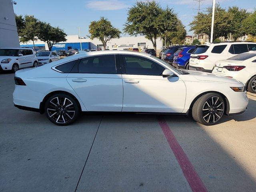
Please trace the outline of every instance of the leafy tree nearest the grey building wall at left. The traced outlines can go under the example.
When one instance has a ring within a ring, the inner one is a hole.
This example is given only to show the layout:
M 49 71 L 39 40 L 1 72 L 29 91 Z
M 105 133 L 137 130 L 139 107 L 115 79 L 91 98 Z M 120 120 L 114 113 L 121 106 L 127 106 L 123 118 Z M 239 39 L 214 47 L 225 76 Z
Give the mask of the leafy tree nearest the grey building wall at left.
M 40 31 L 40 24 L 38 19 L 34 18 L 34 16 L 25 15 L 24 17 L 25 26 L 20 31 L 20 41 L 28 42 L 33 41 L 33 45 L 35 48 L 34 41 L 37 40 L 37 36 Z

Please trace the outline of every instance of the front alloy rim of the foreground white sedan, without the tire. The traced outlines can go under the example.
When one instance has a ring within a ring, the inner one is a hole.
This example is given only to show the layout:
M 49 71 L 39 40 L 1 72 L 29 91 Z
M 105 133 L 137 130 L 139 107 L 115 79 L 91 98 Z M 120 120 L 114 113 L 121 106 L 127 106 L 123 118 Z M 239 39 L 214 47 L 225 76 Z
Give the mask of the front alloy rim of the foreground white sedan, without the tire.
M 204 103 L 202 116 L 207 123 L 217 122 L 224 113 L 224 101 L 218 96 L 212 96 Z

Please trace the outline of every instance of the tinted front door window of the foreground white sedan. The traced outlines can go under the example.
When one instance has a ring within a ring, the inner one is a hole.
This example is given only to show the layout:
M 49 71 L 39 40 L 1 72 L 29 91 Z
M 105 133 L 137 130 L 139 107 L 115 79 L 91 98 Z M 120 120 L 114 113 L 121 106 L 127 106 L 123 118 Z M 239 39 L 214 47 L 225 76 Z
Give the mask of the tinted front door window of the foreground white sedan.
M 156 62 L 140 56 L 123 55 L 126 74 L 160 76 L 165 70 Z

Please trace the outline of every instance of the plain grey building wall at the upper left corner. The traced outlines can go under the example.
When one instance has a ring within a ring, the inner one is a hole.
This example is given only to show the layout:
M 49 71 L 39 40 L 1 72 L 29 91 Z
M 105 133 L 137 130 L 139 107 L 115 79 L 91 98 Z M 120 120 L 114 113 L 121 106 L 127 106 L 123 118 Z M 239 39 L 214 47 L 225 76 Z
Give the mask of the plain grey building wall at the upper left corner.
M 11 0 L 0 0 L 0 48 L 19 47 L 17 26 Z

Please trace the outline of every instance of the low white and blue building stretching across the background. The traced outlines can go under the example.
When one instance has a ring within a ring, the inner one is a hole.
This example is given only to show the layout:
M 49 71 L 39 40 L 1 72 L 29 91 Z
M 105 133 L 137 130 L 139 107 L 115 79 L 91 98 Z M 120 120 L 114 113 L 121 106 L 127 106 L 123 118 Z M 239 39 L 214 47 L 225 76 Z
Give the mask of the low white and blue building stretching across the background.
M 103 44 L 100 42 L 99 39 L 95 38 L 91 40 L 90 38 L 81 37 L 79 38 L 78 35 L 68 35 L 66 36 L 65 42 L 59 42 L 54 44 L 52 50 L 69 50 L 69 49 L 102 49 Z M 160 50 L 162 47 L 162 41 L 160 38 L 157 39 L 156 42 L 156 49 Z M 21 47 L 33 47 L 32 42 L 21 43 Z M 144 36 L 129 36 L 129 37 L 121 37 L 121 38 L 114 38 L 107 42 L 106 49 L 109 50 L 124 50 L 128 48 L 153 48 L 153 44 L 150 40 L 146 39 Z M 48 45 L 46 42 L 37 40 L 35 41 L 35 49 L 36 50 L 49 50 Z

